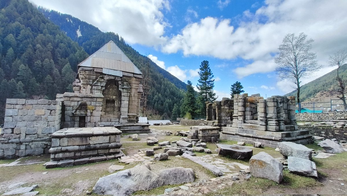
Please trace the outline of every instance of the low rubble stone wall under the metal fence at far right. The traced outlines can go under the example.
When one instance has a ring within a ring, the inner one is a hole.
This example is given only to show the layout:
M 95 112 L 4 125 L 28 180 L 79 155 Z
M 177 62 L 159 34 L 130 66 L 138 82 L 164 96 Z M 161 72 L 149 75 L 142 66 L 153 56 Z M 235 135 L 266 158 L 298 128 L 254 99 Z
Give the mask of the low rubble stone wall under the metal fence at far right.
M 296 113 L 296 120 L 347 120 L 347 111 L 331 111 L 328 113 Z

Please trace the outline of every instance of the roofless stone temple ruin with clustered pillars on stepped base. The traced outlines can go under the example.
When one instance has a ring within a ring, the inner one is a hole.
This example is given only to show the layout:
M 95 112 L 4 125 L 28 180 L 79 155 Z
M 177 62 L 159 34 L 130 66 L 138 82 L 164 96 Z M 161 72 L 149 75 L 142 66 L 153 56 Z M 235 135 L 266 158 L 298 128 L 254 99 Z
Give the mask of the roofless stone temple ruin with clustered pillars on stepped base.
M 313 143 L 308 130 L 298 130 L 294 96 L 264 99 L 259 94 L 234 95 L 234 99 L 206 103 L 206 116 L 222 128 L 221 139 L 249 144 L 257 141 L 274 148 L 281 141 Z

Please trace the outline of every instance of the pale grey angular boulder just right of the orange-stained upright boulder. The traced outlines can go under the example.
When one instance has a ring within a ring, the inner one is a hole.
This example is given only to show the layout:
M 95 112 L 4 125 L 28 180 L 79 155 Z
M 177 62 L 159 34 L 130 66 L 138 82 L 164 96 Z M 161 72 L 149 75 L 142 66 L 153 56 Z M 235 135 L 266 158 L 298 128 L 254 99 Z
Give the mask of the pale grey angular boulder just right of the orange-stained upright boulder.
M 318 178 L 316 164 L 304 158 L 288 156 L 288 170 L 291 173 Z

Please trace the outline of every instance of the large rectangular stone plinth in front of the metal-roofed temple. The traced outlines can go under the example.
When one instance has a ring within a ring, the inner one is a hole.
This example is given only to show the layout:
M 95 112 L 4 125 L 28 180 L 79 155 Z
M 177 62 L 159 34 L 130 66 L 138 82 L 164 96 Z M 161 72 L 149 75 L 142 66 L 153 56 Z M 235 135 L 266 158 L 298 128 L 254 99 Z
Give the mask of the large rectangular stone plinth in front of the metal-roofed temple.
M 121 153 L 120 134 L 114 127 L 68 128 L 51 135 L 51 161 L 76 160 Z

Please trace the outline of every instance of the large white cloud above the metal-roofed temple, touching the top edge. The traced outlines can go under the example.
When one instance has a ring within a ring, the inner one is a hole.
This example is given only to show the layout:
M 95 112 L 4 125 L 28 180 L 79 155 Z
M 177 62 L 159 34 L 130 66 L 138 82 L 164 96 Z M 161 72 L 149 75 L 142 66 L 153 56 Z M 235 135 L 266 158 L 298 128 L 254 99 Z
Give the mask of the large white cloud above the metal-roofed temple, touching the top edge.
M 115 32 L 129 43 L 158 46 L 166 42 L 168 26 L 162 11 L 170 10 L 167 0 L 30 0 L 36 5 L 73 15 L 104 32 Z

